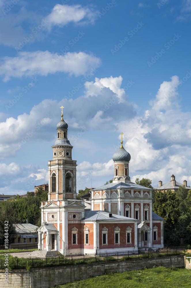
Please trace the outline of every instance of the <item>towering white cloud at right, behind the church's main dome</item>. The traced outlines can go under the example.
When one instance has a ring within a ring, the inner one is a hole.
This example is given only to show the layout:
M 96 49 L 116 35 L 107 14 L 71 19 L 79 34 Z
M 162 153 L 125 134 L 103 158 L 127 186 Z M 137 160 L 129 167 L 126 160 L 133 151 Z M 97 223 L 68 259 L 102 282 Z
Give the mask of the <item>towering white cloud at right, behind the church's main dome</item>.
M 119 134 L 124 132 L 124 148 L 131 154 L 129 171 L 132 181 L 137 177 L 150 178 L 157 187 L 159 180 L 166 183 L 174 174 L 177 181 L 182 183 L 186 179 L 188 185 L 191 184 L 191 113 L 181 109 L 177 91 L 180 84 L 177 76 L 171 77 L 171 81 L 164 81 L 156 97 L 150 101 L 149 110 L 142 116 L 123 120 L 117 125 Z M 104 173 L 108 179 L 114 176 L 112 160 L 95 164 L 99 167 L 99 175 L 94 171 L 91 175 L 97 177 L 97 182 Z M 83 175 L 86 177 L 86 173 L 88 175 L 85 166 L 80 171 L 80 179 Z

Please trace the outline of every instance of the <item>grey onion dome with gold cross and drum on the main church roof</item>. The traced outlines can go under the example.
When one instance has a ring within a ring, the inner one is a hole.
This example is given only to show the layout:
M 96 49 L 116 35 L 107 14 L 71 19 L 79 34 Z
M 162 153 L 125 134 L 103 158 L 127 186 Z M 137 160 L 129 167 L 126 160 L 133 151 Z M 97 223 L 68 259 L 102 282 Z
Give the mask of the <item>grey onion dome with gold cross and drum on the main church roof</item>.
M 114 153 L 114 178 L 113 183 L 125 182 L 130 183 L 129 177 L 129 161 L 131 160 L 131 155 L 123 148 L 123 141 L 121 132 L 121 146 L 119 150 Z

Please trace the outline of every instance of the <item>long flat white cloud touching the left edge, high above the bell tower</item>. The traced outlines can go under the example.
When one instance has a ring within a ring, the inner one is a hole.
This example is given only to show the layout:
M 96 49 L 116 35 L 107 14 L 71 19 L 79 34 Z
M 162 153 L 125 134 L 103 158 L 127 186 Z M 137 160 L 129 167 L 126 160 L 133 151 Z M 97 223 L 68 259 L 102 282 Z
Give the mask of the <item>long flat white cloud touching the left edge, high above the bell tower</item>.
M 12 77 L 47 76 L 56 72 L 79 76 L 100 64 L 99 58 L 84 52 L 68 52 L 63 56 L 49 51 L 19 52 L 16 57 L 5 56 L 1 60 L 0 75 L 4 76 L 5 82 Z

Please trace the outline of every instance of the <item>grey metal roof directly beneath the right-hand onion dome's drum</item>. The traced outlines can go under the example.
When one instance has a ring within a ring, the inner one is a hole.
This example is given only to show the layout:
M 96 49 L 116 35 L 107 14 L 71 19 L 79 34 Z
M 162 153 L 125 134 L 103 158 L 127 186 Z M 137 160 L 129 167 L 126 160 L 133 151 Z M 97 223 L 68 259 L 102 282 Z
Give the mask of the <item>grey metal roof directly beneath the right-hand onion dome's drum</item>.
M 126 189 L 135 189 L 135 190 L 151 190 L 150 188 L 138 185 L 136 183 L 130 182 L 130 183 L 124 183 L 124 182 L 118 182 L 118 183 L 109 183 L 107 185 L 103 185 L 100 187 L 97 187 L 95 189 L 92 189 L 91 191 L 94 190 L 107 190 L 107 189 L 117 189 L 117 188 L 126 188 Z

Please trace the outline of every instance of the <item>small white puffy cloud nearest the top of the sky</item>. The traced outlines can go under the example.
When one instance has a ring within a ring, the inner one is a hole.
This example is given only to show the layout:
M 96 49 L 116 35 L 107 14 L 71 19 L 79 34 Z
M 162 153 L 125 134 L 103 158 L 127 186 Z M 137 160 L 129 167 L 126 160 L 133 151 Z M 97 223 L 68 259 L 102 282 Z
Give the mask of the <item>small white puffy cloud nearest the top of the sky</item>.
M 97 12 L 82 5 L 60 5 L 56 4 L 52 12 L 47 16 L 49 27 L 58 25 L 60 27 L 68 24 L 69 22 L 94 23 Z

